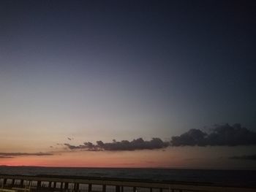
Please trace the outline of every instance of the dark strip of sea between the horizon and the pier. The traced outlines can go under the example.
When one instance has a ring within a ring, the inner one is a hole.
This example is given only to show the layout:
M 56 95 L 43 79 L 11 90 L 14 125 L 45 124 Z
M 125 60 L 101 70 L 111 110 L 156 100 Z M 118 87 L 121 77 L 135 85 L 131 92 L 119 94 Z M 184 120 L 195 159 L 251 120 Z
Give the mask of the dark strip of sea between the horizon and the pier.
M 204 169 L 127 169 L 127 168 L 66 168 L 37 166 L 0 166 L 0 174 L 69 175 L 86 177 L 118 177 L 140 180 L 213 183 L 230 186 L 256 187 L 256 171 Z

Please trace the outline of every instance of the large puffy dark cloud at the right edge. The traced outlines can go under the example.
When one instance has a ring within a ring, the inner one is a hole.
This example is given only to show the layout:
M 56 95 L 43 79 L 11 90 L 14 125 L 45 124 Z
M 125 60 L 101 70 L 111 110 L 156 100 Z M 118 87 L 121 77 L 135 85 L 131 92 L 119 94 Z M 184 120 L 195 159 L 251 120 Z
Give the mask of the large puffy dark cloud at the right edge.
M 237 146 L 256 145 L 256 133 L 236 123 L 217 125 L 206 134 L 200 129 L 190 129 L 180 136 L 172 137 L 172 146 Z

